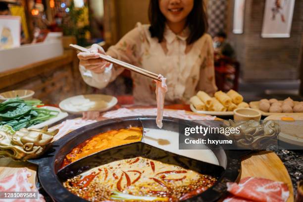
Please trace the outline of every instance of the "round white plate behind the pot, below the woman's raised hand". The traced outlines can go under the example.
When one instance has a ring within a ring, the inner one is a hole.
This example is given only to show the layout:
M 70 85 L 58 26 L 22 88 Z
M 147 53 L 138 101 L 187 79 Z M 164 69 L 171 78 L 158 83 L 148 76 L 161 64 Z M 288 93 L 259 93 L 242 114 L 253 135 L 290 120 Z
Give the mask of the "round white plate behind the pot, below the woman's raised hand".
M 84 111 L 106 111 L 116 105 L 115 97 L 91 94 L 67 98 L 59 103 L 59 107 L 73 114 L 82 114 Z

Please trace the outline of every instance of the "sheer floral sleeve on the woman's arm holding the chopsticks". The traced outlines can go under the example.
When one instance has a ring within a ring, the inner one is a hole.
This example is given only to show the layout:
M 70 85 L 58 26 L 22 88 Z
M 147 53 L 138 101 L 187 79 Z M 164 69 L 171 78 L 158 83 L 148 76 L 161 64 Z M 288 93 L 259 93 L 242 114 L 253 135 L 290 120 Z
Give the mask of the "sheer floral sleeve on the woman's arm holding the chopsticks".
M 140 29 L 138 27 L 134 28 L 124 35 L 116 45 L 111 46 L 106 51 L 106 54 L 124 62 L 135 64 L 138 61 L 140 54 L 141 35 Z M 81 65 L 79 66 L 79 69 L 83 80 L 88 85 L 99 89 L 106 87 L 108 83 L 115 80 L 124 70 L 124 68 L 116 65 L 110 65 L 103 73 L 91 72 Z

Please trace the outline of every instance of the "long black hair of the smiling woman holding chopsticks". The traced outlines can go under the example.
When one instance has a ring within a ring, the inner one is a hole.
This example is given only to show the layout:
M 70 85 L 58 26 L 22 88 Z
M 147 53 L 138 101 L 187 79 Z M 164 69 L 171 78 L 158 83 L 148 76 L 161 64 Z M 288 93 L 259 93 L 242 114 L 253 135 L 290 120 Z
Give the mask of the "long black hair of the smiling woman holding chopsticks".
M 151 36 L 158 38 L 159 43 L 162 42 L 166 18 L 160 10 L 159 0 L 150 1 L 149 19 Z M 194 7 L 187 16 L 186 25 L 190 29 L 187 44 L 194 43 L 206 32 L 208 25 L 203 0 L 194 0 Z

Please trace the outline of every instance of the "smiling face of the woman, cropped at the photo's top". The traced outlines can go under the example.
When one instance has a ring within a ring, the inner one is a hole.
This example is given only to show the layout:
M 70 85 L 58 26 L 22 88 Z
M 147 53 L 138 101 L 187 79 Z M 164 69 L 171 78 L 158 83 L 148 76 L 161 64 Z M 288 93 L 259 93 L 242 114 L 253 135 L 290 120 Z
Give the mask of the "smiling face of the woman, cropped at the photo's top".
M 159 6 L 168 22 L 178 23 L 186 20 L 194 7 L 194 0 L 159 0 Z

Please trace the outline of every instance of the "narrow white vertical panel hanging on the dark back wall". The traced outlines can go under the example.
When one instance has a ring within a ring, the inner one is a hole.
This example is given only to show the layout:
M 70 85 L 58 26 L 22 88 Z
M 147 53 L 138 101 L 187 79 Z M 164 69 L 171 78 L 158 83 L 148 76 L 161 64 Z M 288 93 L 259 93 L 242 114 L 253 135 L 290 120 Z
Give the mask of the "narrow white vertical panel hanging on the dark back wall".
M 243 34 L 245 0 L 235 0 L 233 33 Z

